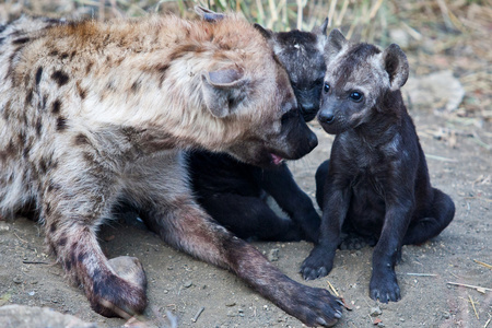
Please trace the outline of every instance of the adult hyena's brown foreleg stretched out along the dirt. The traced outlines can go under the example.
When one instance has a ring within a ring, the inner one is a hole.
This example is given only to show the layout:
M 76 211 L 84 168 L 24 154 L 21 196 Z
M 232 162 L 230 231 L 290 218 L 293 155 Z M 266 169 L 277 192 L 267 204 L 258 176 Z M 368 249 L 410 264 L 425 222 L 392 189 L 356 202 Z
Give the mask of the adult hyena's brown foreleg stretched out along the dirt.
M 141 218 L 165 242 L 207 262 L 234 271 L 266 298 L 308 326 L 331 326 L 341 317 L 336 297 L 302 285 L 272 266 L 255 247 L 216 224 L 189 195 L 144 206 Z

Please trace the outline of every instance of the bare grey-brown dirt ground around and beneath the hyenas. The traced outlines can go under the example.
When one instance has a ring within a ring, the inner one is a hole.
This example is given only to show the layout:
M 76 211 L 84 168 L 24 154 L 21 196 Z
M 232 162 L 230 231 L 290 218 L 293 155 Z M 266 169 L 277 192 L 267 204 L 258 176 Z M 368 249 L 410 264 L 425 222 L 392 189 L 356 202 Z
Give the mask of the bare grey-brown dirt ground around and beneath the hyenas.
M 471 50 L 452 47 L 441 55 L 433 55 L 425 49 L 432 44 L 424 44 L 423 51 L 408 52 L 413 77 L 452 69 L 468 84 L 455 113 L 437 110 L 435 103 L 426 108 L 411 106 L 431 181 L 450 195 L 456 215 L 433 241 L 403 246 L 402 262 L 396 268 L 401 301 L 380 304 L 368 297 L 372 248 L 338 250 L 328 277 L 305 282 L 298 269 L 312 244 L 254 243 L 296 281 L 317 288 L 331 283 L 352 308 L 343 312 L 337 327 L 374 327 L 379 320 L 378 327 L 492 327 L 492 72 L 487 59 L 490 44 L 482 44 L 479 40 Z M 484 59 L 477 62 L 480 54 L 485 54 Z M 488 84 L 476 90 L 473 81 Z M 489 110 L 488 118 L 479 110 Z M 314 200 L 314 173 L 328 159 L 333 138 L 317 125 L 313 128 L 318 148 L 290 167 Z M 0 221 L 0 306 L 51 307 L 101 327 L 171 327 L 169 318 L 178 327 L 303 327 L 231 272 L 174 250 L 141 226 L 112 222 L 99 237 L 109 258 L 129 255 L 143 263 L 149 306 L 142 316 L 127 321 L 94 313 L 82 291 L 67 283 L 61 267 L 46 254 L 40 226 L 24 218 Z

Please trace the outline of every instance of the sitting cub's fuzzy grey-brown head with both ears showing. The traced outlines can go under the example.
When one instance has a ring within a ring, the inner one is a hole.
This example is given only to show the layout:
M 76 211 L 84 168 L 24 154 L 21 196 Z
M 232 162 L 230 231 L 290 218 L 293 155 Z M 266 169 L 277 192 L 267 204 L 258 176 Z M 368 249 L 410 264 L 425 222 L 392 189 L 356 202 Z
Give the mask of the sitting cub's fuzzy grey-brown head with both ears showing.
M 382 112 L 388 93 L 397 92 L 409 73 L 407 56 L 393 44 L 384 51 L 348 42 L 338 30 L 328 36 L 327 71 L 318 120 L 338 134 L 371 120 Z

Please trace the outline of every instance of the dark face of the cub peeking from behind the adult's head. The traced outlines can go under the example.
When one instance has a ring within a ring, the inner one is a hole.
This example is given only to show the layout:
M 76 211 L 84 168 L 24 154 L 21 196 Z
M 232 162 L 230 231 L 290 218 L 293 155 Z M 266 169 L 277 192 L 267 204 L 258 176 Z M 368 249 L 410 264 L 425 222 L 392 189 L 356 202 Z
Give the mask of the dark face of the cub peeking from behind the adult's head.
M 268 40 L 279 61 L 285 68 L 304 120 L 309 121 L 319 110 L 326 65 L 328 19 L 312 32 L 293 30 L 274 33 L 254 25 Z

